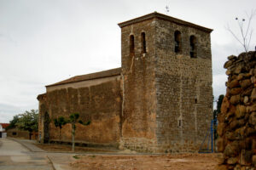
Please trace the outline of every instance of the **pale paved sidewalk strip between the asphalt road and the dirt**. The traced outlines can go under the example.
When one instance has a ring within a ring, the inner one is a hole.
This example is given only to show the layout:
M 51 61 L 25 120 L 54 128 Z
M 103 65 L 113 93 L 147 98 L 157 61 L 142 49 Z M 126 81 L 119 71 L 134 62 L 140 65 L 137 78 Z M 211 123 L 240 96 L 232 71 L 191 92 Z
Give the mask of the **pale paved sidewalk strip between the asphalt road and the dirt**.
M 55 170 L 67 170 L 70 169 L 68 167 L 69 163 L 71 163 L 73 159 L 73 153 L 52 153 L 47 152 L 45 150 L 42 150 L 36 146 L 35 140 L 28 140 L 28 139 L 13 139 L 9 138 L 11 140 L 14 140 L 15 142 L 22 144 L 26 149 L 36 152 L 38 154 L 43 154 L 49 159 L 49 162 L 52 164 L 53 168 Z

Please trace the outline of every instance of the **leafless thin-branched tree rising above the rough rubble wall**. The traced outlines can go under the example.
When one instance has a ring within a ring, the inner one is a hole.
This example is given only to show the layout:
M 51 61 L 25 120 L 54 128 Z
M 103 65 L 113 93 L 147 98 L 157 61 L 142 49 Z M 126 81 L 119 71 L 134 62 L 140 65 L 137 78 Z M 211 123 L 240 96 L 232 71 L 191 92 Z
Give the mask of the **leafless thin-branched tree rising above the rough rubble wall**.
M 246 12 L 247 20 L 244 18 L 239 19 L 238 17 L 236 17 L 236 21 L 239 26 L 239 31 L 241 35 L 236 34 L 234 31 L 232 31 L 229 25 L 227 26 L 227 30 L 230 31 L 232 36 L 235 37 L 236 40 L 241 44 L 246 53 L 248 52 L 248 48 L 250 46 L 250 42 L 253 36 L 253 28 L 251 27 L 251 23 L 255 14 L 256 10 L 253 9 L 251 11 L 251 14 L 248 14 Z

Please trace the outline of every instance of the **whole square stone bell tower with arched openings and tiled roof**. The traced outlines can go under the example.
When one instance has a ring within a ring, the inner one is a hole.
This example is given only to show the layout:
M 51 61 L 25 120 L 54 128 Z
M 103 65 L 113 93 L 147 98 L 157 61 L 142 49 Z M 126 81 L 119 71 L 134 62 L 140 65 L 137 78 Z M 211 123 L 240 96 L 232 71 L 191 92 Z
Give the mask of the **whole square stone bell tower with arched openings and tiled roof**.
M 119 26 L 120 148 L 198 150 L 212 117 L 212 30 L 156 12 Z

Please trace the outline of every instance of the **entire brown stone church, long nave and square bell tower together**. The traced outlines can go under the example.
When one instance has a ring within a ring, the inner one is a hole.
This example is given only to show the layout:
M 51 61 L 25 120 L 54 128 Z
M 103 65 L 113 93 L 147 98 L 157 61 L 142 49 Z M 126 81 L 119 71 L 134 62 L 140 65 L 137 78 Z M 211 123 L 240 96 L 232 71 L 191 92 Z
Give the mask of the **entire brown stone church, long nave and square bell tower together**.
M 154 12 L 119 23 L 120 68 L 69 78 L 38 95 L 39 140 L 79 113 L 76 142 L 140 152 L 195 152 L 212 119 L 211 29 Z M 61 142 L 71 141 L 71 126 Z

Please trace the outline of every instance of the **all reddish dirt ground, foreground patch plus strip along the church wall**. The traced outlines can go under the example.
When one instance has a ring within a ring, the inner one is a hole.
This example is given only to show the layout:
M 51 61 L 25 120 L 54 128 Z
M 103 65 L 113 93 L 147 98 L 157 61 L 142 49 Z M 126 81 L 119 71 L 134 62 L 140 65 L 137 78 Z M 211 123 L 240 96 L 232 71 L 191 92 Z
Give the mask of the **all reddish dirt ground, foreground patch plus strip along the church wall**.
M 36 144 L 55 152 L 71 152 L 71 145 Z M 75 147 L 72 170 L 213 170 L 218 165 L 217 154 L 140 155 L 130 150 L 103 150 Z M 80 154 L 78 154 L 80 153 Z M 90 153 L 90 155 L 88 155 Z M 87 154 L 87 155 L 85 155 Z

